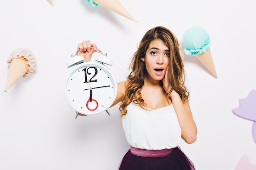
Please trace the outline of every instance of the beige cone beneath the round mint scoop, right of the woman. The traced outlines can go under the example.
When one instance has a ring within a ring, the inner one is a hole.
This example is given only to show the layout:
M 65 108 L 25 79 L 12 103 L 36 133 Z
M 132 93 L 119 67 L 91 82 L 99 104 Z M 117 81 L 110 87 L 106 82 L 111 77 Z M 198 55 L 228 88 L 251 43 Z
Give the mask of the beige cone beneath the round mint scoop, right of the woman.
M 215 78 L 218 78 L 210 49 L 195 56 L 198 58 L 198 60 L 200 60 L 200 62 L 202 62 L 202 64 L 204 64 L 204 66 L 213 74 Z

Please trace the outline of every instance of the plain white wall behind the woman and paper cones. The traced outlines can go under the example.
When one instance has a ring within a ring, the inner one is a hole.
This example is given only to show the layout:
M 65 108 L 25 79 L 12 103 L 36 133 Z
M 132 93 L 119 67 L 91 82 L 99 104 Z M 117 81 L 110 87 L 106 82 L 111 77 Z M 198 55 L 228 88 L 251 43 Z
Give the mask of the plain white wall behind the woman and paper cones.
M 117 169 L 129 148 L 118 106 L 110 117 L 75 119 L 64 93 L 66 62 L 79 42 L 91 40 L 123 81 L 137 42 L 157 25 L 171 29 L 182 46 L 190 26 L 202 26 L 211 37 L 218 79 L 195 57 L 184 58 L 198 139 L 181 141 L 182 150 L 198 170 L 234 170 L 243 155 L 256 164 L 253 122 L 231 111 L 256 88 L 254 0 L 119 0 L 137 23 L 86 0 L 53 2 L 0 2 L 1 170 Z M 4 92 L 7 57 L 21 47 L 34 52 L 38 68 Z

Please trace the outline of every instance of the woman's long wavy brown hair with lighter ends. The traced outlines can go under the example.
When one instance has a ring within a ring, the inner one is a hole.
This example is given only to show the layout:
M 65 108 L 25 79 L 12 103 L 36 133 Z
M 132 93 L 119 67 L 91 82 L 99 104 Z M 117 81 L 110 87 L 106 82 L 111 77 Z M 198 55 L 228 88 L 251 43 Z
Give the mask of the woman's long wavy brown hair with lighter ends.
M 141 60 L 146 56 L 146 51 L 150 42 L 153 40 L 162 40 L 170 50 L 169 59 L 169 73 L 168 78 L 170 82 L 171 91 L 166 93 L 166 99 L 169 102 L 169 95 L 175 90 L 181 97 L 183 102 L 189 100 L 189 91 L 184 85 L 185 71 L 184 64 L 180 52 L 183 54 L 182 48 L 179 46 L 179 42 L 175 35 L 167 28 L 163 26 L 156 26 L 150 29 L 142 38 L 139 43 L 138 50 L 134 53 L 132 61 L 130 63 L 130 74 L 127 77 L 128 83 L 126 84 L 125 95 L 122 99 L 119 110 L 121 116 L 126 115 L 126 107 L 131 102 L 139 104 L 141 108 L 144 108 L 146 104 L 141 97 L 141 89 L 144 85 L 144 78 L 147 75 L 145 62 Z

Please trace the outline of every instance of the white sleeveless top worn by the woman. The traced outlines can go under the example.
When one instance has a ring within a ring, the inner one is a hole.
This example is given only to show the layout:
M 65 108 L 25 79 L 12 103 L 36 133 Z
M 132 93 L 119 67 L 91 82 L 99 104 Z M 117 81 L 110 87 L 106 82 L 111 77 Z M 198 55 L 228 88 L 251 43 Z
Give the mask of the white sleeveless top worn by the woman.
M 144 110 L 131 102 L 122 117 L 124 133 L 130 146 L 147 150 L 175 148 L 181 128 L 173 105 Z

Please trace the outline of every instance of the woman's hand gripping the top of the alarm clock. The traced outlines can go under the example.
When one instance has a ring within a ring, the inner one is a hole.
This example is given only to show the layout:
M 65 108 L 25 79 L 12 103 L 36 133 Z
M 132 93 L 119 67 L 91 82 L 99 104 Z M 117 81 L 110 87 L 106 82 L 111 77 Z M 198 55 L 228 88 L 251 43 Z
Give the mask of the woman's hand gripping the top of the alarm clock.
M 91 44 L 90 40 L 79 43 L 77 46 L 77 50 L 79 51 L 76 54 L 83 56 L 85 62 L 89 62 L 91 60 L 92 54 L 94 52 L 101 52 L 99 49 L 97 49 L 96 44 Z

